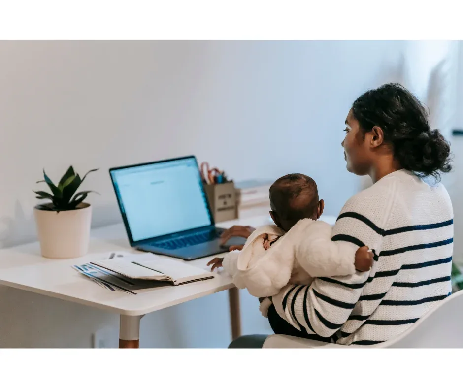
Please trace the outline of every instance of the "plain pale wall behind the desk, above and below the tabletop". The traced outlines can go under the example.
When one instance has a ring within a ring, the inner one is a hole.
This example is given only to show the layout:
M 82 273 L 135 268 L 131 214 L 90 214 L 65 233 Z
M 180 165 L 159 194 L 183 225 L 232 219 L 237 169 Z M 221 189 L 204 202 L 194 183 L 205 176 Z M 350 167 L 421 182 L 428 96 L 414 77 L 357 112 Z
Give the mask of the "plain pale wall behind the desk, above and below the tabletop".
M 0 244 L 35 236 L 32 190 L 44 167 L 100 167 L 85 188 L 94 226 L 120 219 L 110 166 L 196 154 L 236 180 L 305 172 L 327 214 L 360 185 L 345 171 L 354 98 L 397 78 L 403 42 L 0 42 Z M 207 317 L 203 323 L 202 317 Z M 268 332 L 243 293 L 243 331 Z M 117 317 L 0 289 L 0 347 L 88 347 Z M 223 347 L 226 293 L 142 320 L 142 347 Z M 115 342 L 116 343 L 116 342 Z

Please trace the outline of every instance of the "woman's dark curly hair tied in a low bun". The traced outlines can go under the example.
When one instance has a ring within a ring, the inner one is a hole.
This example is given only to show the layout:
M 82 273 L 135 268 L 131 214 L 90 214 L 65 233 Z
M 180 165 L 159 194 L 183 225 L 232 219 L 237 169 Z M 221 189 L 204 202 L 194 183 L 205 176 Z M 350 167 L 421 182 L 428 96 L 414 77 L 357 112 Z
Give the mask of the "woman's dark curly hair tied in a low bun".
M 386 84 L 365 92 L 352 105 L 360 128 L 383 130 L 402 168 L 421 177 L 450 172 L 450 144 L 438 129 L 431 130 L 422 103 L 400 84 Z

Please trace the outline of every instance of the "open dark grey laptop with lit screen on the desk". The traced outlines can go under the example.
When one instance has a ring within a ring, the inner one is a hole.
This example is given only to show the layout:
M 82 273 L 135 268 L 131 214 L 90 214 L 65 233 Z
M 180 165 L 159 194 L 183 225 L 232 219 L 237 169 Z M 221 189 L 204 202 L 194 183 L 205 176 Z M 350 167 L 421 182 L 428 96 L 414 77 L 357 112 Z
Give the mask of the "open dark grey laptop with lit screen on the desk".
M 115 167 L 111 181 L 130 245 L 144 252 L 194 260 L 244 244 L 221 246 L 194 156 Z

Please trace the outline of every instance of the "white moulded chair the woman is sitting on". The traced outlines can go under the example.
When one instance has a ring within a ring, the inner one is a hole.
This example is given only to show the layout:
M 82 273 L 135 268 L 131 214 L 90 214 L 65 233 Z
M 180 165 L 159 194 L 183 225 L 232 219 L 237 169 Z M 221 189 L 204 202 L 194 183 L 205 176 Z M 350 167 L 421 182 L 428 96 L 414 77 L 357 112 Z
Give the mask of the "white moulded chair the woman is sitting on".
M 270 335 L 264 348 L 463 348 L 463 290 L 437 304 L 398 337 L 376 345 L 336 345 Z

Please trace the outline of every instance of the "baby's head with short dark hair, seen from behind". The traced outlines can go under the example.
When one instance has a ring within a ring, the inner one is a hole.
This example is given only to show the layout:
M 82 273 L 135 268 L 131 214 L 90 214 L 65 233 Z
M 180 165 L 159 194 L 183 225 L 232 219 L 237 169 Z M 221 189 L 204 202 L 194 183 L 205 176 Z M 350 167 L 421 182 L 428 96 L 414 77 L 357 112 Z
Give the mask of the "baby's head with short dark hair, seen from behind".
M 270 216 L 285 232 L 304 218 L 317 220 L 325 203 L 318 199 L 315 181 L 303 174 L 289 174 L 277 179 L 269 190 Z

